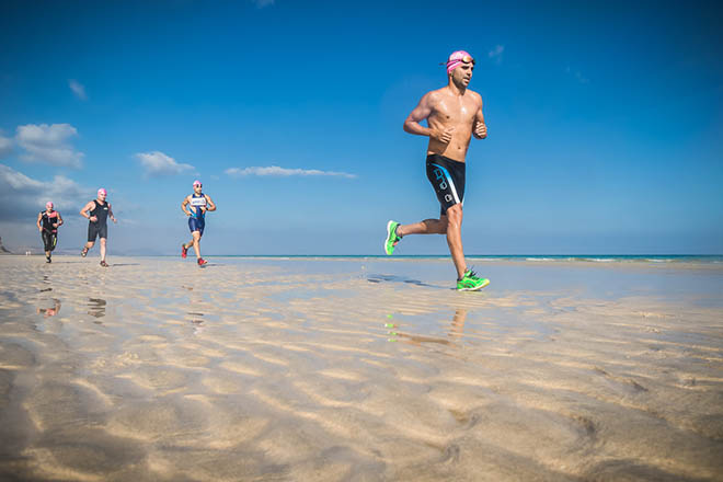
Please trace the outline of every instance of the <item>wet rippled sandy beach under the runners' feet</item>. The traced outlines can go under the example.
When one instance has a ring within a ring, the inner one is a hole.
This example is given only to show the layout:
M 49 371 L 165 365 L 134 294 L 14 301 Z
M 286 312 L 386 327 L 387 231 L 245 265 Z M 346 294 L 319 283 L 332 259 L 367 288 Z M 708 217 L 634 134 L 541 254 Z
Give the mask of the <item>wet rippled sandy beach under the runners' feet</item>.
M 721 264 L 209 261 L 0 257 L 0 479 L 723 480 Z

